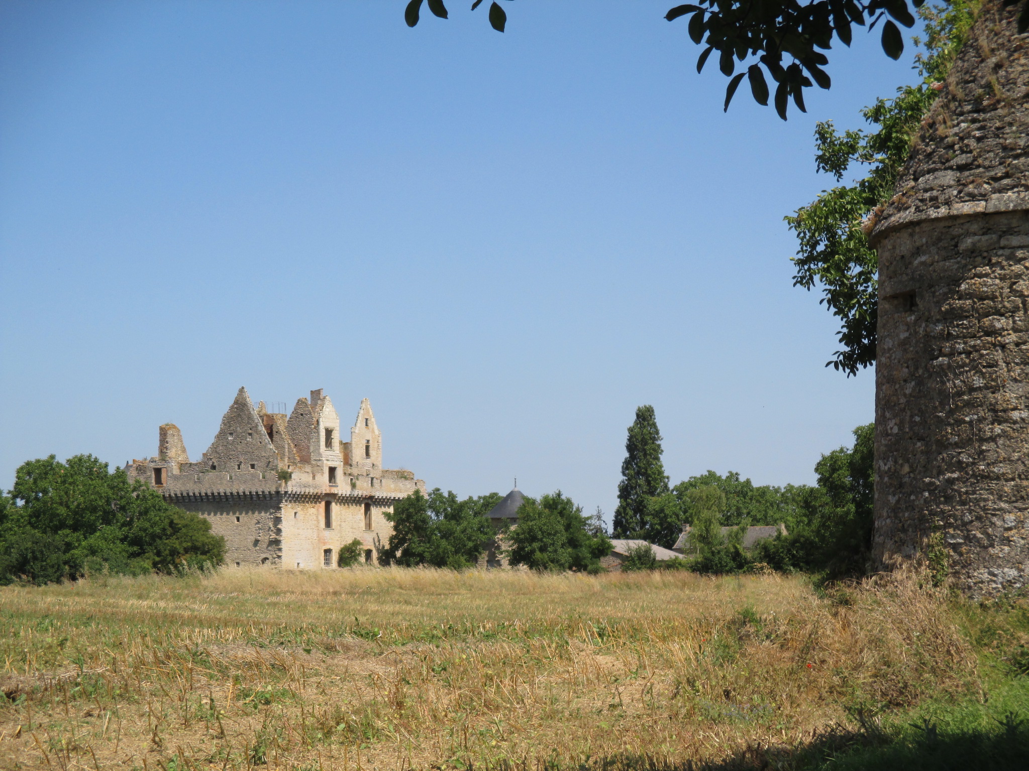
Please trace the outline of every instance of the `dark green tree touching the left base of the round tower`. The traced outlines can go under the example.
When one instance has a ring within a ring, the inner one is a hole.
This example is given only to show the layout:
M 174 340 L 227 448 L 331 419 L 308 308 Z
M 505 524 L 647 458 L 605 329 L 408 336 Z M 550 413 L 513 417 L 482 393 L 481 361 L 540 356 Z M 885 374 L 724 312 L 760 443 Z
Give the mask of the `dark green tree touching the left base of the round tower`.
M 757 545 L 754 558 L 777 570 L 860 575 L 872 549 L 875 424 L 854 429 L 854 446 L 822 455 L 818 486 L 797 495 L 804 516 L 789 535 Z

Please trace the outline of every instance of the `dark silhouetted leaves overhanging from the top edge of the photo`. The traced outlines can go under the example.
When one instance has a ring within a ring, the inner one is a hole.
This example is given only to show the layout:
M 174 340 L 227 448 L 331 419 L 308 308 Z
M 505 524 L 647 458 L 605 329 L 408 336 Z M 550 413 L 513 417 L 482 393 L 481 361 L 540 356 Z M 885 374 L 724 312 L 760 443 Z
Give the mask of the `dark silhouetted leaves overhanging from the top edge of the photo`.
M 1029 26 L 1029 0 L 1003 0 L 1004 5 L 1022 1 L 1019 32 Z M 474 0 L 474 10 L 483 0 Z M 750 93 L 760 105 L 769 100 L 783 120 L 790 100 L 801 112 L 804 89 L 818 84 L 828 88 L 831 80 L 823 69 L 829 63 L 824 51 L 839 40 L 850 45 L 854 27 L 879 27 L 880 40 L 886 56 L 899 59 L 903 51 L 903 37 L 897 24 L 912 27 L 913 9 L 921 8 L 925 0 L 698 0 L 697 3 L 676 5 L 665 19 L 673 22 L 688 16 L 686 33 L 689 39 L 704 49 L 697 60 L 697 71 L 712 54 L 716 54 L 718 69 L 730 78 L 725 88 L 725 109 L 736 89 L 747 79 Z M 439 19 L 447 19 L 443 0 L 427 0 L 429 10 Z M 410 0 L 404 8 L 404 20 L 414 27 L 420 20 L 423 0 Z M 503 32 L 507 13 L 500 3 L 490 3 L 490 26 Z M 771 77 L 773 86 L 769 84 Z

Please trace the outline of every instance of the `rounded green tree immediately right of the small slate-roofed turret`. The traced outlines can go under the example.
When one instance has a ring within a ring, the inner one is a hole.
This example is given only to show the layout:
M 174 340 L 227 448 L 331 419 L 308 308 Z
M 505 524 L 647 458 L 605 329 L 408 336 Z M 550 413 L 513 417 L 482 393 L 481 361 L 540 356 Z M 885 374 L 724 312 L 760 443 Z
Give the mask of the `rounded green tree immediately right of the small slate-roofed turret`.
M 582 507 L 561 490 L 536 501 L 526 498 L 518 510 L 518 526 L 510 530 L 507 551 L 511 564 L 534 571 L 601 570 L 600 558 L 611 551 L 611 542 L 582 516 Z

